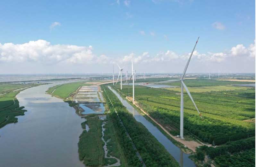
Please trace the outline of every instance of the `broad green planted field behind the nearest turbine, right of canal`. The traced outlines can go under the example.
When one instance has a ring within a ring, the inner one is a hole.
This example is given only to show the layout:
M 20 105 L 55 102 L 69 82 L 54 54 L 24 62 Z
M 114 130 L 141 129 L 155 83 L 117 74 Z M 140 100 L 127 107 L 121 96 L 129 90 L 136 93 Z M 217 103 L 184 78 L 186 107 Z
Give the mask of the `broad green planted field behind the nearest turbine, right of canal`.
M 193 82 L 195 83 L 193 83 Z M 191 80 L 187 85 L 213 85 L 213 80 Z M 216 84 L 218 81 L 214 81 Z M 230 81 L 220 81 L 220 84 Z M 233 82 L 231 82 L 233 83 Z M 241 83 L 241 82 L 239 82 Z M 116 86 L 119 89 L 119 86 Z M 132 86 L 123 86 L 127 95 Z M 200 88 L 200 87 L 198 87 Z M 140 106 L 159 123 L 168 127 L 174 135 L 179 134 L 180 92 L 135 86 L 135 99 Z M 255 135 L 255 90 L 224 90 L 192 93 L 203 119 L 198 116 L 190 98 L 184 94 L 184 133 L 204 142 L 222 144 Z M 249 120 L 249 121 L 247 121 Z

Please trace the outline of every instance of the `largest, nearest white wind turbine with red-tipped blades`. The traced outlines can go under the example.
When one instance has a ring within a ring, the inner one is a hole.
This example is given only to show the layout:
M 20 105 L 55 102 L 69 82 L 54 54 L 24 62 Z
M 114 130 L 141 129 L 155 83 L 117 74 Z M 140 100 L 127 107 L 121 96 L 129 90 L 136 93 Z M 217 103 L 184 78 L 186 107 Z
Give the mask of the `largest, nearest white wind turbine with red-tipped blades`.
M 197 41 L 196 41 L 196 44 L 197 44 L 198 40 L 199 40 L 199 37 L 198 37 L 198 39 L 197 39 Z M 187 87 L 187 86 L 185 85 L 185 83 L 183 82 L 183 78 L 184 78 L 184 76 L 185 76 L 185 74 L 186 74 L 186 71 L 187 71 L 187 68 L 188 68 L 190 59 L 191 59 L 191 57 L 192 57 L 192 54 L 193 54 L 193 52 L 194 52 L 194 50 L 195 50 L 196 44 L 195 44 L 195 46 L 194 46 L 194 48 L 193 48 L 193 50 L 192 50 L 192 52 L 191 52 L 191 55 L 190 55 L 190 57 L 189 57 L 189 59 L 188 59 L 188 62 L 187 62 L 187 64 L 186 64 L 185 68 L 184 68 L 184 71 L 183 71 L 183 75 L 182 75 L 181 80 L 167 80 L 167 81 L 157 82 L 157 83 L 168 83 L 168 82 L 174 82 L 174 81 L 181 81 L 181 98 L 180 98 L 180 138 L 181 138 L 181 139 L 184 139 L 184 136 L 183 136 L 183 119 L 184 119 L 184 118 L 183 118 L 183 117 L 184 117 L 183 87 L 185 88 L 185 90 L 186 90 L 187 94 L 189 95 L 191 101 L 193 102 L 193 104 L 194 104 L 194 106 L 195 106 L 197 112 L 199 113 L 200 117 L 202 118 L 201 113 L 199 112 L 199 110 L 198 110 L 198 108 L 197 108 L 197 106 L 196 106 L 196 104 L 195 104 L 195 102 L 194 102 L 194 100 L 193 100 L 193 98 L 192 98 L 192 96 L 191 96 L 189 90 L 188 90 L 188 87 Z

